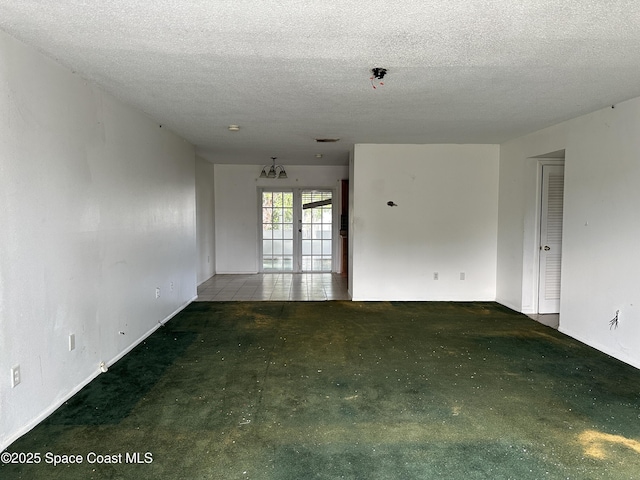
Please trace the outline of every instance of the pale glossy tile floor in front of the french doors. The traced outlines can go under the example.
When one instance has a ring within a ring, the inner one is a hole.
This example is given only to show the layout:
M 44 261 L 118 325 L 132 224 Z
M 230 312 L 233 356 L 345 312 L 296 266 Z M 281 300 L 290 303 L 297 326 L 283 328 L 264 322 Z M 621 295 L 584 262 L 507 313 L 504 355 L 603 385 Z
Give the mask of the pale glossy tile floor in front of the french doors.
M 335 273 L 214 275 L 198 287 L 199 302 L 349 300 L 347 277 Z

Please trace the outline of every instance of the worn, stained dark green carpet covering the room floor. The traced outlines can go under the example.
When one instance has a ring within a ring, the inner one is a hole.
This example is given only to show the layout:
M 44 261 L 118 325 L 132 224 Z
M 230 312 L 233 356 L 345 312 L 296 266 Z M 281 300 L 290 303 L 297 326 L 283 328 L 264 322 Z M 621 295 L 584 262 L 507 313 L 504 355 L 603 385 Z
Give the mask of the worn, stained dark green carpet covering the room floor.
M 496 303 L 193 303 L 7 451 L 41 455 L 7 480 L 629 480 L 640 371 Z

